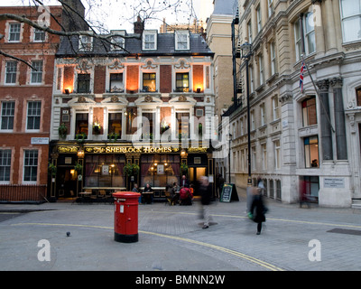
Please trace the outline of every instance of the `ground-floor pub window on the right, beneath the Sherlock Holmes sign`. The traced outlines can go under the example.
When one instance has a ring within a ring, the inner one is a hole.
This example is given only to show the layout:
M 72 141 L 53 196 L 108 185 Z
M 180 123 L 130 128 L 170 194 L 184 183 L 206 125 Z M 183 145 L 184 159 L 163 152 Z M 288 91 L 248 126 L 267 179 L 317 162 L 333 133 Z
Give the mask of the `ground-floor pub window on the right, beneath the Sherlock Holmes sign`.
M 141 183 L 165 187 L 180 182 L 180 155 L 143 154 L 141 156 Z

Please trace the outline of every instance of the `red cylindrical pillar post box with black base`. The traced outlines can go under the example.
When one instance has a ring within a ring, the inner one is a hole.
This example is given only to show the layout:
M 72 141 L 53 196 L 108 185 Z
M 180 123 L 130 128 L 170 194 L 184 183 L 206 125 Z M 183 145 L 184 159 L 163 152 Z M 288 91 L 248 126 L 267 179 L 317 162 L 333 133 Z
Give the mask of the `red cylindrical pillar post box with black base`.
M 119 191 L 113 194 L 114 239 L 117 242 L 138 242 L 138 199 L 140 193 Z

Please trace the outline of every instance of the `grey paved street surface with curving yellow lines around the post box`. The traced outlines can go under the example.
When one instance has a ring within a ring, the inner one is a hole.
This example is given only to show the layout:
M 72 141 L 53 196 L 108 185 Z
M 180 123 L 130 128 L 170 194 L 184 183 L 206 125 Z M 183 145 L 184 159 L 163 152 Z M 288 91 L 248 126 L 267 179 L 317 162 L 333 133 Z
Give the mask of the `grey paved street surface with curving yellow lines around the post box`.
M 114 241 L 115 212 L 111 204 L 1 204 L 0 270 L 361 269 L 361 236 L 329 232 L 335 228 L 361 231 L 361 210 L 304 209 L 274 200 L 267 200 L 267 204 L 270 210 L 260 236 L 255 235 L 256 224 L 245 216 L 242 198 L 214 202 L 208 229 L 201 228 L 198 202 L 193 206 L 140 205 L 139 241 L 131 244 Z M 41 240 L 49 241 L 49 261 L 39 260 Z M 316 243 L 310 245 L 312 240 Z M 318 256 L 319 261 L 310 260 Z

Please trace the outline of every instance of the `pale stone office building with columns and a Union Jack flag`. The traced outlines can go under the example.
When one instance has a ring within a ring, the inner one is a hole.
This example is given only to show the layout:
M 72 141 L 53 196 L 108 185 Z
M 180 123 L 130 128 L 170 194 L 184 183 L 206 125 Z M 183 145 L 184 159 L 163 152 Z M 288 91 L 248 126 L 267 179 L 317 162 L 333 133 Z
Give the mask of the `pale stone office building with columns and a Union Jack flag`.
M 250 42 L 252 177 L 284 202 L 304 191 L 321 206 L 361 198 L 359 1 L 239 1 L 238 44 Z M 302 55 L 304 71 L 300 88 Z M 245 61 L 240 65 L 245 81 Z M 313 82 L 312 82 L 313 80 Z M 232 177 L 247 179 L 246 87 L 230 116 Z

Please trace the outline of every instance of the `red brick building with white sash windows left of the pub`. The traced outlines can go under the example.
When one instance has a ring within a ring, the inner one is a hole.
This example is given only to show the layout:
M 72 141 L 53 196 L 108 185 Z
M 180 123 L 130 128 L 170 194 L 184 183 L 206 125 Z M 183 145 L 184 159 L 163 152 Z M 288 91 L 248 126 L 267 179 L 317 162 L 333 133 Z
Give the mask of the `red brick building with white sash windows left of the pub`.
M 60 23 L 66 27 L 71 14 L 62 6 L 49 8 L 57 21 L 35 6 L 0 7 L 0 14 L 24 16 L 34 23 L 46 19 L 51 29 L 60 31 Z M 14 20 L 0 21 L 0 34 L 0 201 L 41 201 L 47 193 L 51 95 L 60 37 Z

